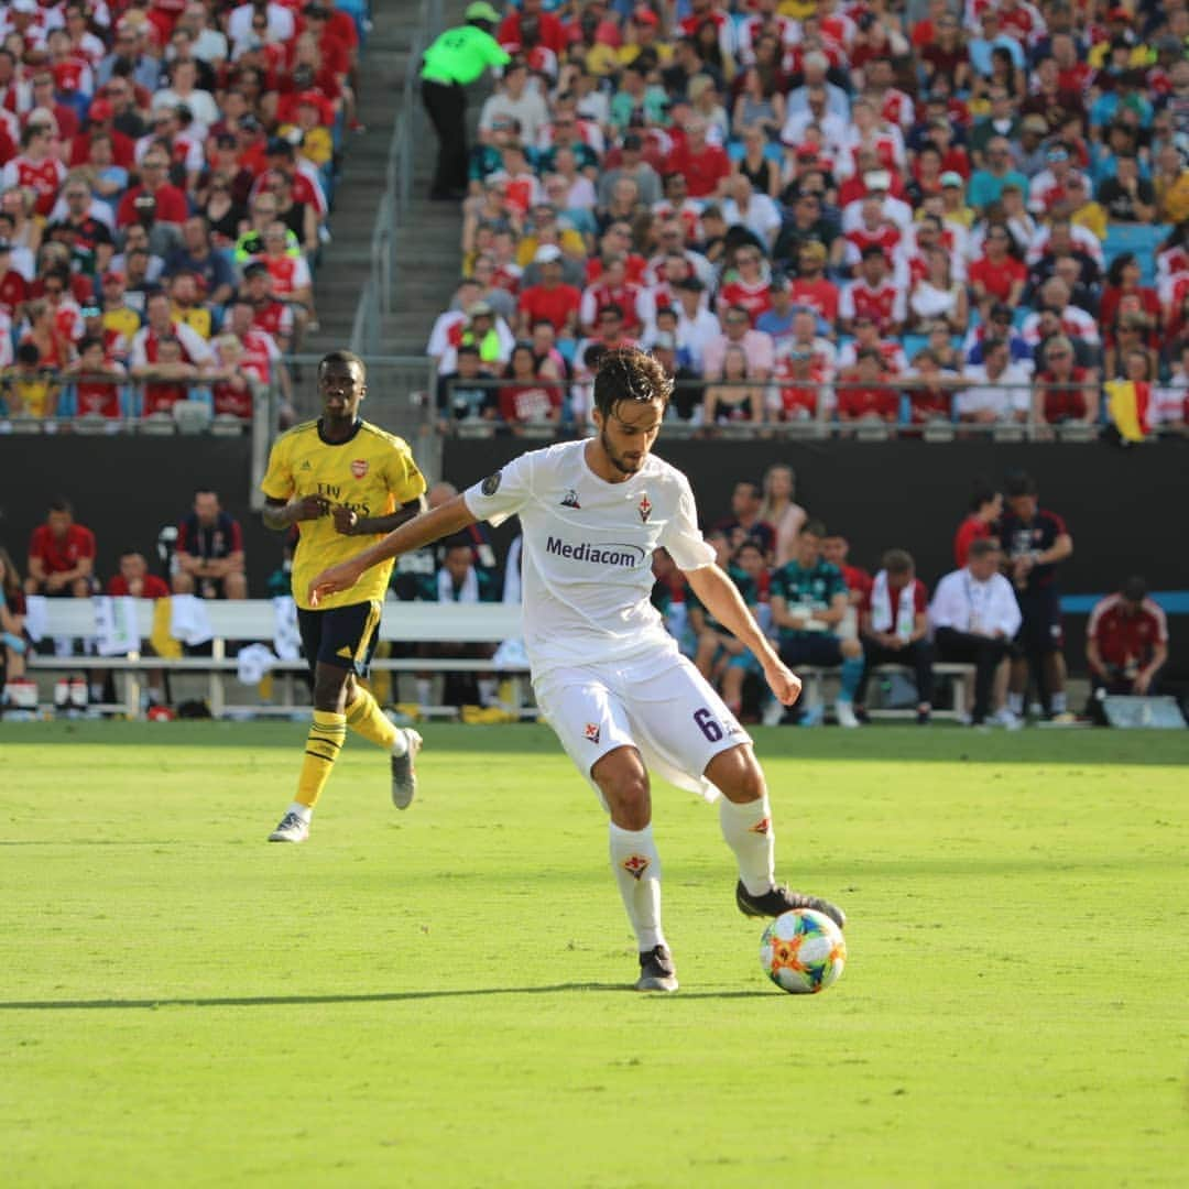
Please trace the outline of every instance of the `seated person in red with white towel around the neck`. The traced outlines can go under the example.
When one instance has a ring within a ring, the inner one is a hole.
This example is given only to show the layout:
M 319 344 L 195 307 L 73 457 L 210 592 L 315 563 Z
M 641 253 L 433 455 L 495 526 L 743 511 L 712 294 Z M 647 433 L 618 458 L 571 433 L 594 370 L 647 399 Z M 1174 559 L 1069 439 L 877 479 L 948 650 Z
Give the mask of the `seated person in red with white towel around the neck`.
M 877 665 L 907 665 L 917 679 L 917 722 L 929 723 L 933 710 L 933 646 L 929 641 L 929 592 L 917 577 L 912 554 L 888 549 L 883 568 L 858 605 L 858 638 L 863 675 L 855 690 L 860 713 L 867 682 Z

